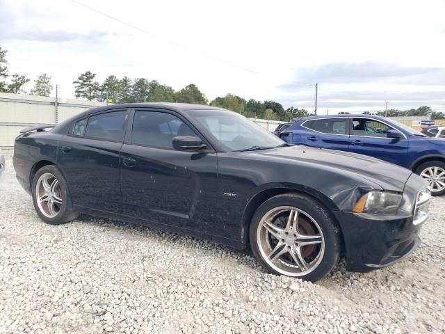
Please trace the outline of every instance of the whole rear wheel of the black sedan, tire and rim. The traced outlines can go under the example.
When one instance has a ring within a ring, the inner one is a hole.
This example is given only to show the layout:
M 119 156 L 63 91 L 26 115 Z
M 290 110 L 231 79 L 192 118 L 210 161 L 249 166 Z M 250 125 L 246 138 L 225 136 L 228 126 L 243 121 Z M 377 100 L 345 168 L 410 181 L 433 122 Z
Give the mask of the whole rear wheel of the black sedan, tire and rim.
M 45 223 L 56 225 L 77 217 L 67 183 L 56 166 L 43 166 L 35 173 L 32 191 L 35 211 Z

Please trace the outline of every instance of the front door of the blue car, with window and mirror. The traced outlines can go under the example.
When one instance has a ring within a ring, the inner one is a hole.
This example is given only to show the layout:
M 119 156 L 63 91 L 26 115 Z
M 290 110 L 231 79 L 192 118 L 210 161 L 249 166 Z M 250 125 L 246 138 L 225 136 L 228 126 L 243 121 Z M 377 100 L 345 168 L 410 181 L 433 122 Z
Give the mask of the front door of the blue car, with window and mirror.
M 372 118 L 350 118 L 350 152 L 369 155 L 404 166 L 407 159 L 408 139 L 402 133 L 401 138 L 388 138 L 386 132 L 389 129 L 394 128 Z

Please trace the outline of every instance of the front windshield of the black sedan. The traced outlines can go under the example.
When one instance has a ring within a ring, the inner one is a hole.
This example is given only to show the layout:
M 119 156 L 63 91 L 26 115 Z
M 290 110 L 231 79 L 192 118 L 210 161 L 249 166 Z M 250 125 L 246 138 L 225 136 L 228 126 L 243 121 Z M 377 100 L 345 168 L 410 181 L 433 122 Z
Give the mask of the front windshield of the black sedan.
M 286 145 L 264 127 L 232 111 L 192 110 L 188 114 L 200 122 L 227 151 L 264 150 Z

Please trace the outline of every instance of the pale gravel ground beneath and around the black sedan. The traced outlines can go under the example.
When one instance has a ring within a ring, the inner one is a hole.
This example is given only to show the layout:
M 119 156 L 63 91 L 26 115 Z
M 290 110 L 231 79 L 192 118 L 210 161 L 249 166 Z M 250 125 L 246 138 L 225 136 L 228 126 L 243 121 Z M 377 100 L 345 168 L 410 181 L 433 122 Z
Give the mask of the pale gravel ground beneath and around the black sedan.
M 15 180 L 0 179 L 1 333 L 443 333 L 445 198 L 423 244 L 317 284 L 274 276 L 250 252 L 81 216 L 44 224 Z

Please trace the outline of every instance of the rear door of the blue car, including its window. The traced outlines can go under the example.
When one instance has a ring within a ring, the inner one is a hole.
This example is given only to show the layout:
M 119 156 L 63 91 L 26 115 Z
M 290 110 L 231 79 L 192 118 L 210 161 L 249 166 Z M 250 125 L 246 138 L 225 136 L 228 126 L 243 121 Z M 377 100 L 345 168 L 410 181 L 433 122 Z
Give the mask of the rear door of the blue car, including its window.
M 303 135 L 305 145 L 314 148 L 330 148 L 347 151 L 349 147 L 348 118 L 317 118 L 302 123 L 307 131 Z

